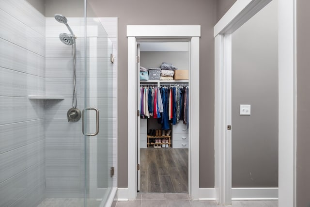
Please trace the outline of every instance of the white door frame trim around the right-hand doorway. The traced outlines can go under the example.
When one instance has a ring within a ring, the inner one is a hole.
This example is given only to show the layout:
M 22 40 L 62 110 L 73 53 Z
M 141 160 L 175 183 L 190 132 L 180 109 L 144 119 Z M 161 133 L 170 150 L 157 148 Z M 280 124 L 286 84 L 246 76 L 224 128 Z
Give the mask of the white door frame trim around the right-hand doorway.
M 225 172 L 221 141 L 225 141 L 225 73 L 224 51 L 230 46 L 223 43 L 224 34 L 232 33 L 254 16 L 268 0 L 237 0 L 233 7 L 214 27 L 215 38 L 215 188 L 217 200 L 225 196 L 228 189 L 222 189 Z M 279 206 L 295 207 L 296 179 L 296 0 L 279 0 Z M 242 6 L 243 5 L 243 6 Z M 218 36 L 218 37 L 217 37 Z M 224 58 L 223 58 L 224 57 Z M 224 93 L 224 94 L 222 94 Z M 217 117 L 218 115 L 218 117 Z M 231 142 L 229 140 L 229 142 Z M 227 144 L 226 144 L 227 146 Z M 220 147 L 220 148 L 218 148 Z M 231 174 L 231 173 L 230 173 Z M 225 187 L 226 188 L 226 187 Z M 228 186 L 227 186 L 228 188 Z M 225 199 L 224 199 L 225 200 Z M 224 201 L 225 202 L 225 201 Z

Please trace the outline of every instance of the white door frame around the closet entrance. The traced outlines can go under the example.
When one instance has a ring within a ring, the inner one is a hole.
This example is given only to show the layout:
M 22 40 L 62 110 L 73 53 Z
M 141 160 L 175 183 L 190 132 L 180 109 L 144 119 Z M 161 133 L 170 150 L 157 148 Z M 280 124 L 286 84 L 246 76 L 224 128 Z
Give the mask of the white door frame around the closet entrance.
M 189 94 L 188 96 L 188 106 L 189 106 L 188 107 L 188 138 L 186 137 L 186 139 L 188 139 L 188 152 L 187 152 L 188 153 L 188 157 L 187 157 L 188 167 L 186 169 L 188 172 L 188 175 L 187 175 L 188 186 L 187 186 L 186 192 L 193 199 L 199 198 L 199 37 L 200 37 L 200 26 L 194 26 L 194 25 L 190 25 L 190 26 L 128 25 L 127 26 L 128 95 L 132 95 L 133 89 L 137 88 L 136 93 L 134 93 L 133 96 L 128 96 L 128 194 L 127 194 L 128 199 L 135 199 L 137 196 L 137 191 L 140 191 L 139 178 L 141 174 L 141 164 L 142 164 L 140 160 L 141 158 L 140 158 L 140 152 L 139 152 L 140 151 L 140 121 L 141 120 L 140 118 L 137 118 L 137 116 L 140 117 L 140 65 L 139 63 L 141 60 L 140 60 L 140 57 L 138 57 L 139 47 L 137 46 L 139 43 L 142 43 L 142 42 L 145 42 L 145 43 L 155 42 L 157 43 L 155 44 L 157 46 L 159 42 L 171 42 L 171 43 L 186 42 L 188 44 L 188 83 L 184 83 L 184 84 L 188 84 L 188 94 Z M 159 66 L 160 64 L 161 63 L 159 63 Z M 158 85 L 160 86 L 160 82 L 156 81 L 155 85 L 157 85 L 157 87 Z M 172 83 L 171 83 L 171 87 L 172 87 Z M 193 88 L 195 88 L 195 90 L 193 90 Z M 138 115 L 137 115 L 137 111 L 139 112 Z M 155 129 L 155 135 L 156 135 L 156 128 L 154 127 L 152 129 Z M 170 130 L 172 132 L 173 127 Z M 181 127 L 181 131 L 182 131 L 182 127 Z M 146 133 L 150 133 L 150 131 L 146 130 Z M 166 136 L 167 136 L 167 133 L 166 133 Z M 156 138 L 156 136 L 151 136 L 151 137 Z M 169 146 L 168 148 L 167 147 L 165 147 L 165 149 L 163 149 L 162 147 L 159 149 L 154 148 L 154 145 L 156 143 L 153 143 L 151 144 L 153 146 L 153 150 L 157 150 L 156 152 L 158 153 L 164 152 L 163 150 L 166 150 L 166 152 L 168 152 L 168 150 L 171 150 L 174 144 L 173 138 L 171 139 L 172 141 L 171 140 L 169 141 L 169 135 L 166 138 L 168 138 L 168 143 L 167 143 Z M 165 138 L 165 144 L 166 144 L 166 138 Z M 158 141 L 159 140 L 157 139 L 157 142 Z M 152 140 L 149 142 L 152 143 Z M 155 139 L 155 142 L 156 142 L 156 139 Z M 144 140 L 144 143 L 147 144 L 147 139 L 146 141 Z M 157 146 L 158 144 L 159 143 L 157 143 Z M 181 148 L 181 149 L 183 150 L 184 148 Z M 158 150 L 161 150 L 161 151 L 158 151 Z M 159 157 L 158 160 L 160 161 L 160 159 L 161 158 Z M 171 159 L 171 156 L 168 156 L 166 160 L 167 159 Z M 186 164 L 185 159 L 186 158 L 182 158 L 178 161 L 184 162 Z M 151 178 L 153 177 L 151 176 Z

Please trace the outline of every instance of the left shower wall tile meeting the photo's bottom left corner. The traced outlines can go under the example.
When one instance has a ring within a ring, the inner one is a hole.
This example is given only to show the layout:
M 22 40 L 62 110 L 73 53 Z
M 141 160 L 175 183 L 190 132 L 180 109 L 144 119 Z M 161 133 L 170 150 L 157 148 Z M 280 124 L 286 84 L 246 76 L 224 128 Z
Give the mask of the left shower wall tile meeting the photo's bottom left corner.
M 44 181 L 45 163 L 41 161 L 0 183 L 0 206 L 10 206 Z

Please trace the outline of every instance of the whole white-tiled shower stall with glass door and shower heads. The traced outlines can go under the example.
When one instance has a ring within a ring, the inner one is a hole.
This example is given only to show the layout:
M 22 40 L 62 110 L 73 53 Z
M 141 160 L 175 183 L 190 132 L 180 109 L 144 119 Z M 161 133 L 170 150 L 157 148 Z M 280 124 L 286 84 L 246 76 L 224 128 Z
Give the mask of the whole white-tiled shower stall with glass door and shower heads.
M 110 206 L 115 37 L 87 0 L 1 0 L 0 16 L 0 207 Z

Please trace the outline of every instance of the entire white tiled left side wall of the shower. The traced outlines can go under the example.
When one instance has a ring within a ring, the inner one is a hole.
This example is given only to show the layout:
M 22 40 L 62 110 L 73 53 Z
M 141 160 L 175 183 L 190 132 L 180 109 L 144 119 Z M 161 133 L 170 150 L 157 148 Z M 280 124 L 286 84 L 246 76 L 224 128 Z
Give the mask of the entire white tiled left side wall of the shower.
M 0 206 L 37 206 L 45 194 L 45 17 L 1 1 Z

